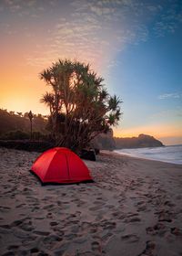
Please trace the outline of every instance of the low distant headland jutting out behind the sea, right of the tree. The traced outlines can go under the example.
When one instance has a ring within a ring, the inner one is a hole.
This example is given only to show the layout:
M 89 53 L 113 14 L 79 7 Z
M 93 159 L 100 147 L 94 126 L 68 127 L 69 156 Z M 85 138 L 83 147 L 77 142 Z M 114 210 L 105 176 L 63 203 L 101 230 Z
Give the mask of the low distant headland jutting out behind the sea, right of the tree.
M 114 138 L 116 142 L 116 148 L 137 148 L 137 147 L 157 147 L 164 146 L 160 141 L 153 136 L 146 134 L 139 134 L 138 137 L 132 138 Z

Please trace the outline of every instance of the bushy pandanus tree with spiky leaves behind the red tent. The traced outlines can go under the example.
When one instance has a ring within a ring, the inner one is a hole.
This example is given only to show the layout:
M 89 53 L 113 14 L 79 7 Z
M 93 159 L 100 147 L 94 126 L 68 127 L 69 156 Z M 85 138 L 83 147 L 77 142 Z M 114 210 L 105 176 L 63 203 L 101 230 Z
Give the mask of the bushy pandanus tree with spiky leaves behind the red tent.
M 51 86 L 41 99 L 50 110 L 49 124 L 56 145 L 75 151 L 106 133 L 120 119 L 120 99 L 112 97 L 89 65 L 58 60 L 40 78 Z

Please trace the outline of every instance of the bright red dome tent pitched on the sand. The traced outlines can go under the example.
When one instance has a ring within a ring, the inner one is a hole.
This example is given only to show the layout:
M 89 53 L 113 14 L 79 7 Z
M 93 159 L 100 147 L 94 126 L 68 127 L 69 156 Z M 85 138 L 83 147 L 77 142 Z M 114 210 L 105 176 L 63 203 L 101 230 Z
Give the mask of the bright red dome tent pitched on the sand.
M 77 183 L 92 181 L 85 163 L 65 147 L 45 151 L 31 168 L 42 183 Z

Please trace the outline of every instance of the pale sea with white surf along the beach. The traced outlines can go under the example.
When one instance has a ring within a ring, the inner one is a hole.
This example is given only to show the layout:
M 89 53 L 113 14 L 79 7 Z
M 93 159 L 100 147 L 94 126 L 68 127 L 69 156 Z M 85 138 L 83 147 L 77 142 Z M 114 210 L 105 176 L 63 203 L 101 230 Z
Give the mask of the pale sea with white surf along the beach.
M 117 149 L 116 153 L 182 165 L 182 144 L 162 147 Z

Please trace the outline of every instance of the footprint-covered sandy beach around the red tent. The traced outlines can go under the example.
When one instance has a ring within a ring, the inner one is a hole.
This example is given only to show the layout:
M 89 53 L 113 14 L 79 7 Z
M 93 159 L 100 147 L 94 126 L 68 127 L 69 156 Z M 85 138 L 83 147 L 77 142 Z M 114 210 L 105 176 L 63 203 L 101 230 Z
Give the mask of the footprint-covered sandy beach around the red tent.
M 182 255 L 182 165 L 102 153 L 95 183 L 44 186 L 0 148 L 0 255 Z

